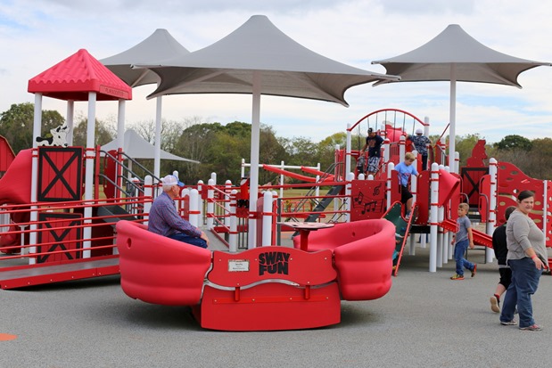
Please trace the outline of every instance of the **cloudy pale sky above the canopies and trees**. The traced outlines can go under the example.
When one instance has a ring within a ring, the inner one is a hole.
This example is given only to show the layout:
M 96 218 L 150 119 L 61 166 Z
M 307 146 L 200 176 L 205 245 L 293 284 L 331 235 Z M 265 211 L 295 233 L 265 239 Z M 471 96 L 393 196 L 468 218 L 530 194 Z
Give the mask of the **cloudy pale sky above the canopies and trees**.
M 301 45 L 336 61 L 384 73 L 383 60 L 407 53 L 449 24 L 501 53 L 552 61 L 552 8 L 541 0 L 0 0 L 0 111 L 34 102 L 30 78 L 79 49 L 103 59 L 167 29 L 189 51 L 211 45 L 251 15 L 267 15 Z M 268 45 L 269 46 L 269 45 Z M 505 135 L 552 136 L 552 68 L 525 71 L 523 89 L 457 83 L 457 135 L 478 133 L 488 142 Z M 155 119 L 154 86 L 134 89 L 127 124 Z M 393 83 L 351 87 L 350 107 L 284 97 L 261 97 L 260 120 L 281 136 L 315 141 L 344 131 L 383 108 L 428 117 L 431 134 L 449 122 L 449 83 Z M 65 103 L 44 99 L 43 108 L 65 114 Z M 87 114 L 87 103 L 76 103 Z M 100 102 L 98 119 L 114 119 L 116 102 Z M 226 124 L 251 122 L 251 95 L 171 95 L 163 118 L 199 117 Z

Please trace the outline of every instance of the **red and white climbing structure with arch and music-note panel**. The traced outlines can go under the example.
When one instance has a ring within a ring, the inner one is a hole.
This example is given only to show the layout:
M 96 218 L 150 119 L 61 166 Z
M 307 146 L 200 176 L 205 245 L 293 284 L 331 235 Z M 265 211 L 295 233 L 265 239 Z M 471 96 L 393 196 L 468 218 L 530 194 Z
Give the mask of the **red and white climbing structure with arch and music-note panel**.
M 383 118 L 378 118 L 383 114 Z M 399 114 L 404 114 L 397 119 Z M 391 118 L 390 118 L 391 117 Z M 362 218 L 379 218 L 383 216 L 391 203 L 400 200 L 400 191 L 397 177 L 393 175 L 392 167 L 400 162 L 405 152 L 414 151 L 412 144 L 408 143 L 408 131 L 414 131 L 415 127 L 408 127 L 406 123 L 410 119 L 415 126 L 422 126 L 427 134 L 428 120 L 422 121 L 402 110 L 377 110 L 368 114 L 363 119 L 348 128 L 348 133 L 353 130 L 363 132 L 367 127 L 379 129 L 378 134 L 389 137 L 383 143 L 380 170 L 375 177 L 365 180 L 363 175 L 351 181 L 350 217 L 351 220 Z M 359 127 L 359 126 L 362 126 Z M 441 137 L 444 135 L 441 135 Z M 394 141 L 394 142 L 393 142 Z M 361 144 L 358 144 L 358 147 Z M 442 266 L 449 258 L 448 234 L 456 231 L 457 204 L 465 201 L 470 204 L 474 213 L 479 214 L 479 221 L 486 224 L 486 230 L 474 230 L 474 242 L 476 245 L 486 247 L 487 261 L 492 261 L 493 252 L 490 234 L 494 231 L 497 218 L 503 218 L 504 210 L 515 202 L 515 193 L 524 189 L 537 192 L 542 200 L 539 201 L 535 213 L 538 224 L 547 234 L 547 245 L 550 246 L 550 200 L 547 196 L 549 184 L 547 181 L 529 178 L 521 173 L 510 163 L 490 159 L 490 164 L 485 152 L 485 142 L 482 140 L 475 144 L 472 156 L 466 159 L 466 165 L 459 169 L 459 173 L 449 173 L 448 168 L 441 166 L 441 162 L 448 162 L 446 146 L 440 140 L 430 148 L 430 169 L 422 171 L 421 160 L 417 165 L 420 176 L 414 178 L 411 184 L 411 192 L 414 193 L 417 209 L 416 221 L 410 226 L 412 233 L 430 233 L 430 271 L 436 271 L 437 266 Z M 358 159 L 362 152 L 348 148 L 347 155 Z M 415 152 L 416 153 L 416 152 Z M 519 175 L 521 174 L 521 175 Z M 451 210 L 453 209 L 453 210 Z M 548 209 L 548 211 L 547 211 Z M 542 210 L 543 215 L 538 215 Z M 404 219 L 404 218 L 403 218 Z M 406 221 L 406 220 L 405 220 Z M 408 221 L 407 221 L 408 223 Z M 403 227 L 397 227 L 398 233 Z M 408 234 L 407 234 L 408 237 Z M 411 249 L 414 244 L 411 244 Z M 401 254 L 401 249 L 397 249 Z M 400 259 L 399 259 L 400 262 Z M 398 269 L 398 267 L 397 267 Z

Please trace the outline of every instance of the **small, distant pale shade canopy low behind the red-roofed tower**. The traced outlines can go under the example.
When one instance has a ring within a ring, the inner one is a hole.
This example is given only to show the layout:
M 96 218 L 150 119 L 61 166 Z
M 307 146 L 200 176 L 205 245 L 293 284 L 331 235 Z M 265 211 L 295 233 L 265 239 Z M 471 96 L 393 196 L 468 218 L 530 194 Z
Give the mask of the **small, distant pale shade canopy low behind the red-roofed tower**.
M 144 138 L 136 133 L 134 129 L 128 129 L 125 132 L 125 146 L 122 147 L 123 152 L 127 154 L 128 157 L 132 159 L 154 159 L 155 158 L 155 147 L 152 143 L 147 142 Z M 103 151 L 118 150 L 119 142 L 117 139 L 111 141 L 110 143 L 105 143 L 102 146 Z M 186 161 L 199 164 L 200 161 L 194 159 L 185 159 L 183 157 L 173 155 L 168 151 L 161 150 L 161 159 L 174 159 L 177 161 Z

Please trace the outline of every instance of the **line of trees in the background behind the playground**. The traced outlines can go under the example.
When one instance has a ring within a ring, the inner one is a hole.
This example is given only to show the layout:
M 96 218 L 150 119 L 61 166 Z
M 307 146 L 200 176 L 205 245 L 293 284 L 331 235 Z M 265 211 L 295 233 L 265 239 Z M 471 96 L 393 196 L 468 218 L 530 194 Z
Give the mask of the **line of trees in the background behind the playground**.
M 34 104 L 31 102 L 12 104 L 9 110 L 0 113 L 0 135 L 12 145 L 15 153 L 32 147 L 32 127 Z M 56 110 L 43 110 L 42 136 L 49 135 L 51 128 L 64 123 L 64 118 Z M 95 144 L 103 145 L 116 137 L 114 119 L 95 122 Z M 144 139 L 155 143 L 155 123 L 152 120 L 129 124 Z M 218 175 L 220 181 L 231 180 L 238 184 L 241 179 L 241 161 L 249 162 L 251 154 L 251 124 L 234 121 L 223 125 L 208 123 L 200 117 L 182 119 L 181 121 L 163 120 L 161 124 L 161 149 L 186 159 L 201 162 L 195 164 L 185 161 L 161 160 L 161 176 L 177 170 L 180 179 L 194 184 L 198 180 L 206 181 L 211 172 Z M 430 136 L 435 143 L 438 136 Z M 482 137 L 478 134 L 457 136 L 457 151 L 460 153 L 460 166 L 471 156 L 475 143 Z M 353 136 L 353 150 L 364 145 L 363 136 Z M 330 135 L 320 142 L 309 137 L 286 138 L 277 136 L 275 130 L 261 124 L 260 127 L 260 163 L 279 165 L 316 166 L 320 163 L 325 170 L 334 163 L 334 148 L 340 145 L 345 148 L 346 133 Z M 86 146 L 87 117 L 75 119 L 73 144 Z M 357 147 L 358 145 L 358 147 Z M 552 179 L 552 139 L 540 138 L 529 140 L 520 135 L 507 135 L 500 142 L 487 144 L 488 157 L 498 161 L 512 162 L 531 177 Z M 152 169 L 153 160 L 140 160 L 146 168 Z M 354 167 L 354 164 L 352 164 Z M 248 170 L 246 170 L 247 175 Z M 274 173 L 260 170 L 260 184 L 278 182 Z M 291 179 L 290 179 L 291 180 Z

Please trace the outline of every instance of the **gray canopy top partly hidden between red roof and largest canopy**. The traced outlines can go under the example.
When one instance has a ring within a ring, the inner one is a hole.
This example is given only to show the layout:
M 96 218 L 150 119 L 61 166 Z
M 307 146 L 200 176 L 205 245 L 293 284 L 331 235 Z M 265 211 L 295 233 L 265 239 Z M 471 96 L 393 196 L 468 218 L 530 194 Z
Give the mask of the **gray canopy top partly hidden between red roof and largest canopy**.
M 135 87 L 158 83 L 160 78 L 151 70 L 132 69 L 133 64 L 154 64 L 186 53 L 190 52 L 170 36 L 167 29 L 156 29 L 150 37 L 145 38 L 139 44 L 127 51 L 102 59 L 100 62 L 128 86 Z

